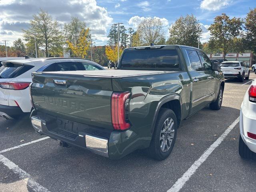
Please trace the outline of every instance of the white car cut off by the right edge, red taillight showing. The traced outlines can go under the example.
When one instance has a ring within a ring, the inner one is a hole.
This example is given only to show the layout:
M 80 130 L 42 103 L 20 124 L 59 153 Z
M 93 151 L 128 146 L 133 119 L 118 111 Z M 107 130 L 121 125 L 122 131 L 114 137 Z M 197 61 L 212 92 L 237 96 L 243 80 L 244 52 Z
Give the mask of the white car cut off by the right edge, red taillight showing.
M 256 154 L 256 80 L 248 88 L 240 110 L 239 154 L 252 158 Z

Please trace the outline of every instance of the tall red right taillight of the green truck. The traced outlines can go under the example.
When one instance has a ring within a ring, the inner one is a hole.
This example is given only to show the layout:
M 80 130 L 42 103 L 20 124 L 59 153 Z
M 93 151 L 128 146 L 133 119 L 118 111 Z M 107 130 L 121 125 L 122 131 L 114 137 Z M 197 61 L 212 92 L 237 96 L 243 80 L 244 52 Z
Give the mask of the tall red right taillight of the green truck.
M 130 128 L 128 120 L 129 92 L 113 93 L 111 96 L 111 118 L 114 130 L 126 130 Z

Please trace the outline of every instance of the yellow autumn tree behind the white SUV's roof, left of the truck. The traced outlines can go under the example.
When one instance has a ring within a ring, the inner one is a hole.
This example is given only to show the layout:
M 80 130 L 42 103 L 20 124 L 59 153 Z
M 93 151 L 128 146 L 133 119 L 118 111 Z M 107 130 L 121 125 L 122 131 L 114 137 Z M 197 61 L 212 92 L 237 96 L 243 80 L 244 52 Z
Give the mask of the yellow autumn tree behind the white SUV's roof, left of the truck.
M 73 44 L 67 40 L 68 47 L 72 50 L 76 57 L 85 58 L 90 47 L 89 28 L 82 29 L 79 34 L 78 43 Z

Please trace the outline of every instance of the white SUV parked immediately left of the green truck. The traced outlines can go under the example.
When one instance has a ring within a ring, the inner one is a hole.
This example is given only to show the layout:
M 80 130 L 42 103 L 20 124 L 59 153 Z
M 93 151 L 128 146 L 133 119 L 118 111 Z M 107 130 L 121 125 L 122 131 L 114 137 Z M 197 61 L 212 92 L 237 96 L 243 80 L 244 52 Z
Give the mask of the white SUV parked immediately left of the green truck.
M 28 86 L 32 72 L 104 70 L 90 60 L 78 58 L 28 58 L 2 62 L 0 68 L 0 116 L 6 119 L 18 118 L 30 113 L 32 104 Z

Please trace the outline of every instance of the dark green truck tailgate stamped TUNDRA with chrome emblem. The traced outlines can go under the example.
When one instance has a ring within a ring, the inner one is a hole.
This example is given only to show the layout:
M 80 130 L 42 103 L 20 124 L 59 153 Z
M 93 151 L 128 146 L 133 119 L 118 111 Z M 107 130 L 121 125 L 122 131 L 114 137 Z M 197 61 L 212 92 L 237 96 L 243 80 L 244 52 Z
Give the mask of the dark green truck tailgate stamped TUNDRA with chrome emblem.
M 113 128 L 111 78 L 34 73 L 32 79 L 31 94 L 37 110 L 74 122 Z

